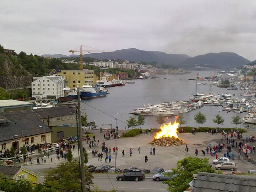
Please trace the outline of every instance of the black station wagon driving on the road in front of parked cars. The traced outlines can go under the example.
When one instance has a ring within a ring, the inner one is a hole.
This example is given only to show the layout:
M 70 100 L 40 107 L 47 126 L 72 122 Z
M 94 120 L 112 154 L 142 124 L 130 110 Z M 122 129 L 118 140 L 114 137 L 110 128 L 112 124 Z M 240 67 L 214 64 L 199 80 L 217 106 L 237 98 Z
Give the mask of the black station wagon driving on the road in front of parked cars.
M 140 181 L 145 178 L 145 173 L 141 169 L 129 170 L 124 174 L 116 176 L 118 181 Z

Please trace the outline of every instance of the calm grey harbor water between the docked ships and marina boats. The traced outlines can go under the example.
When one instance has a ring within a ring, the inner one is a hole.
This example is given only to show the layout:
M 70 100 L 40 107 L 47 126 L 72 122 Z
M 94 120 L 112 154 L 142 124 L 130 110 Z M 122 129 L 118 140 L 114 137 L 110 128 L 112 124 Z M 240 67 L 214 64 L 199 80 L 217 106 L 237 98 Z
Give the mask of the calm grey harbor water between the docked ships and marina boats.
M 185 75 L 159 75 L 159 78 L 155 79 L 133 80 L 136 82 L 135 84 L 125 84 L 125 86 L 108 88 L 109 94 L 105 97 L 82 100 L 81 106 L 83 112 L 87 114 L 88 122 L 95 121 L 98 128 L 101 124 L 112 124 L 112 127 L 115 127 L 116 122 L 114 117 L 116 117 L 118 129 L 121 129 L 122 115 L 124 122 L 123 129 L 125 129 L 125 127 L 128 129 L 125 122 L 130 116 L 137 118 L 137 116 L 129 114 L 132 113 L 132 110 L 135 108 L 147 107 L 149 103 L 161 104 L 163 102 L 189 100 L 189 96 L 196 93 L 196 81 L 188 79 L 196 78 L 196 73 L 197 71 L 191 71 L 191 73 Z M 213 76 L 214 71 L 199 71 L 198 73 L 199 76 L 207 77 Z M 200 81 L 198 81 L 198 83 L 199 82 Z M 219 88 L 214 85 L 197 85 L 197 93 L 207 93 L 210 91 L 215 94 L 232 93 L 235 94 L 235 96 L 232 97 L 243 98 L 239 96 L 241 90 L 227 90 L 226 88 Z M 245 113 L 227 113 L 221 110 L 221 106 L 204 106 L 184 113 L 183 116 L 187 123 L 183 126 L 199 126 L 194 120 L 195 114 L 199 111 L 201 111 L 207 119 L 207 121 L 201 125 L 204 127 L 217 126 L 212 121 L 212 119 L 215 118 L 214 115 L 217 114 L 220 114 L 225 119 L 224 125 L 220 125 L 220 127 L 230 128 L 235 127 L 234 124 L 231 124 L 232 116 L 238 115 L 244 117 L 246 115 Z M 157 124 L 155 120 L 156 116 L 145 116 L 145 124 L 142 125 L 142 128 L 158 128 L 159 124 Z M 169 117 L 166 123 L 170 121 L 173 122 L 174 117 Z M 107 126 L 108 125 L 105 125 L 105 128 Z M 237 125 L 237 127 L 242 128 L 244 125 L 240 124 Z

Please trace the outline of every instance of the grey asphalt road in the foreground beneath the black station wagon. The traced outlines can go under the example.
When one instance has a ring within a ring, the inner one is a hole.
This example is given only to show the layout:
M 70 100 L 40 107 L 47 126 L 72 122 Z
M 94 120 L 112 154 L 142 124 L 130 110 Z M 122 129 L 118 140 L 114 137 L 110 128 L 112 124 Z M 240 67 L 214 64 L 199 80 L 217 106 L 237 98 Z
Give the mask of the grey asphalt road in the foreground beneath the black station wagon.
M 110 175 L 113 177 L 114 175 Z M 163 184 L 161 181 L 153 181 L 152 179 L 144 179 L 143 181 L 117 181 L 116 178 L 110 178 L 113 186 L 118 191 L 129 191 L 129 192 L 167 192 L 168 185 Z M 100 190 L 113 189 L 108 178 L 94 178 L 94 184 Z

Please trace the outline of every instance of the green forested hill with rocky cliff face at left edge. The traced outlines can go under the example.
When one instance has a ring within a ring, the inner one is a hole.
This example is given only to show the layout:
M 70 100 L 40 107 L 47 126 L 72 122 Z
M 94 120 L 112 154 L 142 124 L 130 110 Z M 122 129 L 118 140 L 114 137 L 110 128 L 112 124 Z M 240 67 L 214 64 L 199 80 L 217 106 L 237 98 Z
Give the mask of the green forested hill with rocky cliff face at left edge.
M 15 88 L 31 85 L 33 76 L 49 74 L 53 68 L 78 69 L 78 64 L 65 64 L 59 59 L 46 59 L 20 52 L 16 56 L 5 54 L 0 44 L 0 87 Z

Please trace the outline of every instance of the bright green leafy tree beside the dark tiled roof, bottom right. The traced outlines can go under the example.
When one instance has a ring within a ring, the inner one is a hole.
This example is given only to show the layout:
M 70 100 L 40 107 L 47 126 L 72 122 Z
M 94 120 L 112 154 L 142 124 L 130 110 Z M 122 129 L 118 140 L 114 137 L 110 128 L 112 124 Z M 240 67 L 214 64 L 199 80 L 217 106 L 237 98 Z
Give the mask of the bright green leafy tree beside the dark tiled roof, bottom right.
M 198 157 L 186 157 L 177 162 L 177 168 L 172 169 L 173 174 L 177 174 L 177 177 L 173 179 L 163 181 L 169 185 L 169 192 L 183 192 L 189 185 L 188 183 L 193 180 L 193 174 L 198 172 L 209 172 L 214 173 L 208 164 L 208 158 L 198 158 Z

